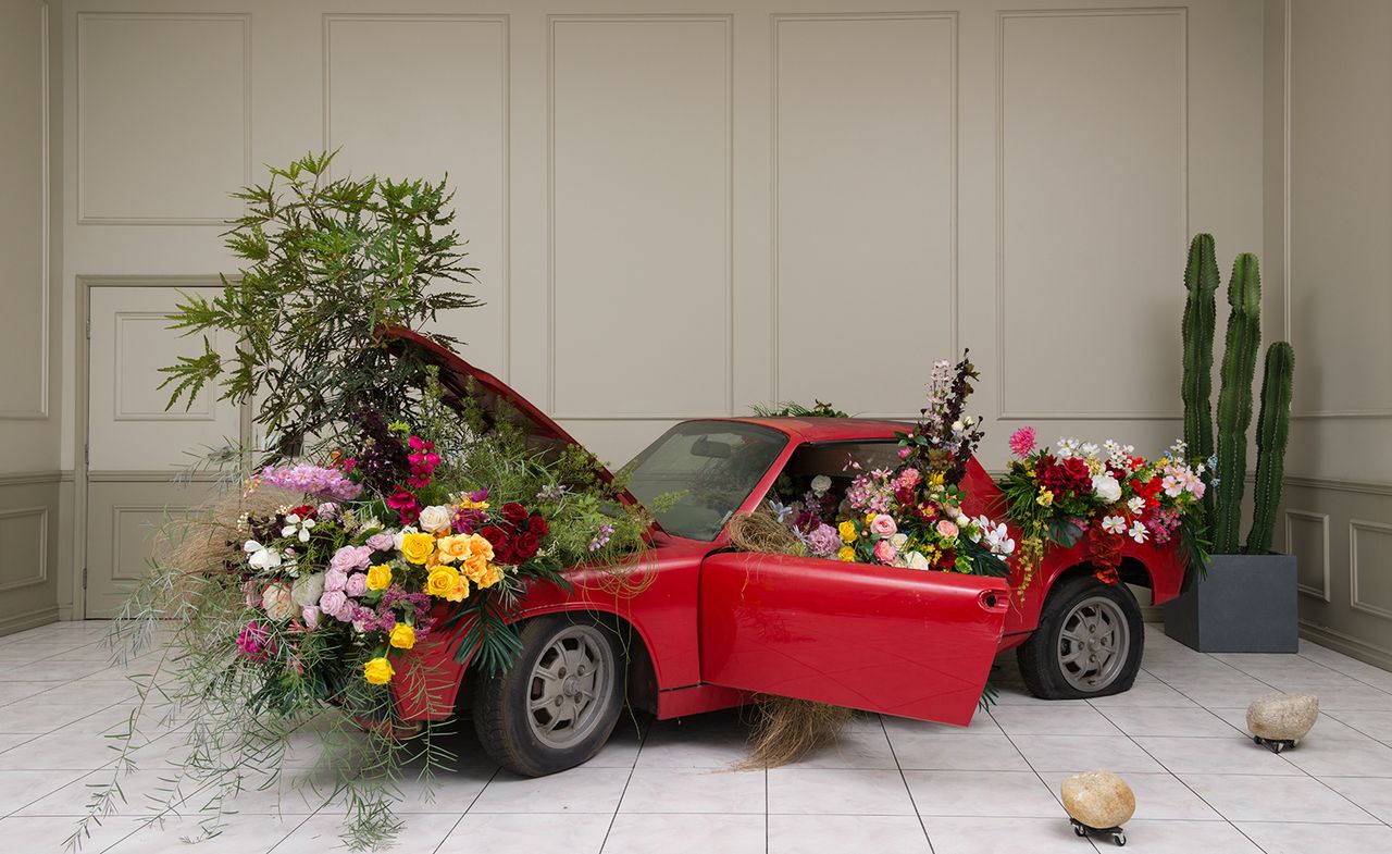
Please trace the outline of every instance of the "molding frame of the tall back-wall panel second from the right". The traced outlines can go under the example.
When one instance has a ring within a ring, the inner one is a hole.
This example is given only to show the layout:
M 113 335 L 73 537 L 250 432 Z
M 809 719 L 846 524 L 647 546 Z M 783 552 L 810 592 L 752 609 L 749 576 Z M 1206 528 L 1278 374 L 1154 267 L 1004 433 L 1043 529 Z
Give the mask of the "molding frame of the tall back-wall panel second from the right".
M 778 265 L 778 28 L 786 21 L 947 21 L 951 28 L 951 45 L 952 53 L 948 59 L 948 67 L 951 78 L 948 81 L 948 92 L 951 98 L 951 107 L 948 110 L 948 138 L 951 139 L 951 152 L 948 164 L 949 174 L 949 201 L 948 206 L 951 215 L 948 217 L 951 233 L 948 235 L 948 346 L 952 352 L 952 359 L 956 359 L 958 350 L 960 347 L 960 277 L 958 267 L 959 255 L 959 203 L 958 203 L 958 181 L 959 181 L 959 125 L 958 125 L 958 110 L 960 100 L 960 60 L 959 60 L 959 13 L 956 11 L 923 11 L 923 13 L 798 13 L 798 14 L 780 14 L 775 13 L 770 15 L 770 53 L 768 53 L 768 72 L 770 72 L 770 99 L 768 99 L 768 226 L 770 226 L 770 396 L 768 400 L 777 405 L 782 400 L 782 361 L 780 358 L 780 339 L 782 322 L 780 316 L 780 300 L 781 300 L 781 276 Z M 734 415 L 734 408 L 731 408 L 731 415 Z M 917 419 L 919 412 L 902 414 L 876 414 L 864 412 L 859 414 L 860 418 L 888 418 L 888 419 Z

